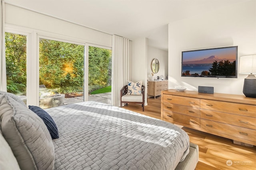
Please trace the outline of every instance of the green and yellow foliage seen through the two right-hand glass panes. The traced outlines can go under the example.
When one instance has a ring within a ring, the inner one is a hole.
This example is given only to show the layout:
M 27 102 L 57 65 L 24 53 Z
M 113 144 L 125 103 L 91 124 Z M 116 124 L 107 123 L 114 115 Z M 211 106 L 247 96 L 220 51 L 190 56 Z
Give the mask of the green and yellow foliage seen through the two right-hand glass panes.
M 89 92 L 109 85 L 111 51 L 89 47 Z M 84 46 L 40 39 L 40 84 L 60 93 L 83 92 Z

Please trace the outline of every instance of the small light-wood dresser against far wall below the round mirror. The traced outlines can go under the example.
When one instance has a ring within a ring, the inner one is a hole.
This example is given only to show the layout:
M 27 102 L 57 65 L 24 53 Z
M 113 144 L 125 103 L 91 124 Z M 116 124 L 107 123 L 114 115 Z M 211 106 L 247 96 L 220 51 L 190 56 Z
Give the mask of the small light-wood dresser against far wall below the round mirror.
M 159 81 L 148 81 L 148 96 L 161 95 L 162 90 L 168 89 L 168 80 L 159 80 Z

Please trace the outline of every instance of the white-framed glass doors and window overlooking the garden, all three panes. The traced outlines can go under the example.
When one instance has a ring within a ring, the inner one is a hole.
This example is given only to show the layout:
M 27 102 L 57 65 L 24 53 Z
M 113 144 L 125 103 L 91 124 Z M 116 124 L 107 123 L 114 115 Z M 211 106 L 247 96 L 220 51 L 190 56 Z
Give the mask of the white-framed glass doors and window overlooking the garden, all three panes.
M 5 34 L 8 92 L 43 109 L 83 101 L 111 104 L 110 47 L 12 31 Z

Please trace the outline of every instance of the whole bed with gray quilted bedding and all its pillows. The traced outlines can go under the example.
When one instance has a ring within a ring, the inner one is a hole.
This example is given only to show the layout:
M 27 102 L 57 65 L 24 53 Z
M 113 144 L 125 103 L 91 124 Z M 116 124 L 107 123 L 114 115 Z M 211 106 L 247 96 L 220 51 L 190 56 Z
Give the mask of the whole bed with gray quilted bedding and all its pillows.
M 198 162 L 179 127 L 99 102 L 44 110 L 0 92 L 0 127 L 1 169 L 193 170 Z

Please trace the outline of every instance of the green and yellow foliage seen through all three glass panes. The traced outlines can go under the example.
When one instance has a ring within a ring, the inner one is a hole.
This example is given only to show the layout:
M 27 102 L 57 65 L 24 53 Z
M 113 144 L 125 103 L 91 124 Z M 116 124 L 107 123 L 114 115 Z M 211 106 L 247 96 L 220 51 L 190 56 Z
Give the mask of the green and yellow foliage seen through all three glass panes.
M 26 36 L 6 33 L 8 92 L 26 94 Z M 89 47 L 89 92 L 111 83 L 111 50 Z M 84 91 L 84 45 L 39 40 L 39 84 L 59 93 Z

